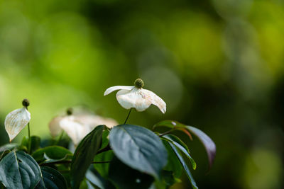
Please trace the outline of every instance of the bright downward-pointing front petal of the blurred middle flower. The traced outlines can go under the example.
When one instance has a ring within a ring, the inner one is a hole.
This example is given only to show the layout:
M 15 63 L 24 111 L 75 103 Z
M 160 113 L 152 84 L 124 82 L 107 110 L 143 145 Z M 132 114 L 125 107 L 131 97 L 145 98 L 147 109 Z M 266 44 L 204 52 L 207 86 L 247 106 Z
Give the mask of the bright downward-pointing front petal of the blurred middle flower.
M 60 127 L 64 130 L 68 136 L 72 139 L 72 142 L 77 146 L 80 141 L 92 131 L 89 125 L 83 125 L 76 121 L 76 118 L 72 115 L 63 118 L 60 122 Z

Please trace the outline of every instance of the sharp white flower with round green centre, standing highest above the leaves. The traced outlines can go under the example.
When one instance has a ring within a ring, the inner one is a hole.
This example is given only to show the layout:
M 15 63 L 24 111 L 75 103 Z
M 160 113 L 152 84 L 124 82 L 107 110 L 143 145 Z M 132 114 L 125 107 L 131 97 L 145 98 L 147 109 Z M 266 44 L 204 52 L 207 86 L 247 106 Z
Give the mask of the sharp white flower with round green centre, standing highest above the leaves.
M 166 111 L 166 104 L 162 98 L 152 91 L 143 89 L 142 79 L 136 79 L 134 86 L 111 86 L 104 92 L 104 96 L 120 90 L 116 93 L 119 104 L 126 109 L 136 108 L 139 112 L 146 110 L 151 104 L 158 106 L 162 113 Z

